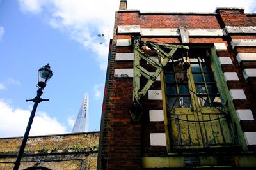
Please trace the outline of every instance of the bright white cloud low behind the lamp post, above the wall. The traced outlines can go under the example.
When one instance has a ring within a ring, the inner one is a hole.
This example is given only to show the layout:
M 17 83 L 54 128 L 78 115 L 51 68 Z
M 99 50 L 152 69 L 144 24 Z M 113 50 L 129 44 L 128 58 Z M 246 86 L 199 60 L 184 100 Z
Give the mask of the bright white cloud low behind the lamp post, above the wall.
M 12 108 L 0 99 L 0 138 L 23 136 L 31 111 Z M 66 127 L 47 113 L 37 111 L 29 135 L 66 133 Z

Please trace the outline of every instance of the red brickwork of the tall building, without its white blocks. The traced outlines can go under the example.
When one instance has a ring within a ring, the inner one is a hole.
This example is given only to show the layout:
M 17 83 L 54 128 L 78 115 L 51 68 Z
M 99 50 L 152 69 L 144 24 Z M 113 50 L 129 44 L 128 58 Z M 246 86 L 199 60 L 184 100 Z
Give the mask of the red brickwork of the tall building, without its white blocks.
M 115 17 L 115 27 L 113 35 L 113 48 L 111 50 L 111 60 L 109 61 L 108 75 L 106 84 L 106 110 L 102 116 L 102 148 L 100 169 L 141 169 L 142 156 L 164 156 L 166 146 L 150 146 L 150 133 L 164 133 L 163 122 L 150 122 L 149 110 L 163 110 L 162 101 L 148 100 L 148 94 L 143 97 L 145 112 L 141 122 L 134 124 L 129 114 L 129 107 L 132 104 L 132 78 L 115 78 L 115 69 L 132 68 L 132 61 L 115 61 L 116 53 L 131 53 L 131 46 L 116 46 L 118 39 L 131 39 L 131 34 L 117 34 L 118 25 L 140 25 L 141 28 L 177 28 L 186 26 L 188 28 L 215 28 L 223 26 L 252 26 L 255 25 L 255 18 L 248 18 L 243 10 L 218 10 L 219 13 L 202 14 L 141 14 L 139 11 L 117 11 Z M 145 37 L 144 41 L 181 43 L 179 36 L 172 37 Z M 218 56 L 231 57 L 233 66 L 222 66 L 223 71 L 236 71 L 239 76 L 238 83 L 228 82 L 230 89 L 244 89 L 246 94 L 245 101 L 234 100 L 234 105 L 239 108 L 250 108 L 255 116 L 255 87 L 256 81 L 246 82 L 242 71 L 244 67 L 250 67 L 246 63 L 238 64 L 236 54 L 239 52 L 256 52 L 256 48 L 235 48 L 229 45 L 232 39 L 256 39 L 255 35 L 237 34 L 223 37 L 190 37 L 189 43 L 193 44 L 213 44 L 225 43 L 227 50 L 217 50 Z M 249 63 L 248 63 L 249 64 Z M 144 63 L 145 67 L 148 67 Z M 254 67 L 253 65 L 252 67 Z M 149 68 L 150 69 L 150 68 Z M 143 82 L 141 82 L 143 83 Z M 160 82 L 155 82 L 151 89 L 161 89 Z M 253 90 L 253 93 L 251 92 Z M 248 124 L 247 124 L 248 123 Z M 255 122 L 241 122 L 243 131 L 255 131 Z

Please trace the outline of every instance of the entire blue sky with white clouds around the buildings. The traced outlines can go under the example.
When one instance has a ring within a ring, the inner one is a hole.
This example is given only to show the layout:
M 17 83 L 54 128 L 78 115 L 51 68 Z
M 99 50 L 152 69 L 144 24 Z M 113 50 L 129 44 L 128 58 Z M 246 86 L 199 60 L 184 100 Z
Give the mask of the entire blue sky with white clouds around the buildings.
M 23 136 L 36 96 L 37 71 L 54 75 L 44 89 L 31 136 L 70 133 L 85 92 L 89 131 L 100 130 L 109 39 L 120 0 L 0 0 L 0 138 Z M 140 11 L 207 12 L 255 0 L 127 0 Z M 104 36 L 98 36 L 104 34 Z

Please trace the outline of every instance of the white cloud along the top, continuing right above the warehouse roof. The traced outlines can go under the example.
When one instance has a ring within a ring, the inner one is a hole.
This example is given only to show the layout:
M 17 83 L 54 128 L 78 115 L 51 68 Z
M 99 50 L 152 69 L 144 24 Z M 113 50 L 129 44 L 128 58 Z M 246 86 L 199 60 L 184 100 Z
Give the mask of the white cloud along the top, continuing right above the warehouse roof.
M 42 16 L 47 16 L 45 19 L 49 25 L 92 50 L 100 69 L 106 70 L 109 37 L 113 34 L 119 0 L 19 0 L 19 3 L 22 11 L 32 14 L 44 13 Z M 218 6 L 244 7 L 246 12 L 252 12 L 255 10 L 255 3 L 255 0 L 180 0 L 179 3 L 170 0 L 128 0 L 127 6 L 129 9 L 140 11 L 213 13 Z M 98 37 L 97 34 L 104 36 Z

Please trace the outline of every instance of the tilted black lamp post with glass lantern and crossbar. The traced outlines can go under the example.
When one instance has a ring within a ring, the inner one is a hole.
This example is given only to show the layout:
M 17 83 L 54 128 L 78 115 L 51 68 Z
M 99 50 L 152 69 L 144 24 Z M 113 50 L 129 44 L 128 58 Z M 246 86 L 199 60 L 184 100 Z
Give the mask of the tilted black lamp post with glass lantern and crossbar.
M 24 137 L 22 139 L 22 143 L 20 145 L 20 149 L 19 149 L 19 153 L 17 155 L 17 159 L 15 161 L 15 166 L 13 167 L 13 170 L 18 170 L 19 166 L 20 166 L 20 160 L 22 158 L 22 155 L 24 153 L 24 149 L 28 140 L 28 135 L 29 135 L 29 131 L 31 129 L 31 125 L 33 122 L 33 119 L 35 117 L 35 113 L 36 113 L 36 108 L 38 106 L 38 103 L 40 103 L 41 101 L 49 101 L 49 99 L 41 99 L 40 96 L 43 94 L 43 90 L 46 87 L 47 81 L 52 77 L 53 73 L 50 69 L 50 65 L 47 64 L 45 66 L 43 66 L 42 68 L 40 68 L 38 70 L 38 90 L 37 90 L 37 95 L 34 99 L 31 100 L 26 100 L 26 101 L 33 101 L 34 102 L 34 106 L 33 109 L 31 111 L 31 115 L 29 117 L 29 121 L 28 121 L 28 125 L 27 125 L 27 129 L 25 131 Z

